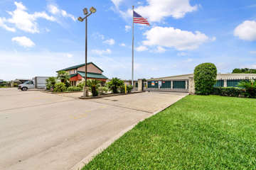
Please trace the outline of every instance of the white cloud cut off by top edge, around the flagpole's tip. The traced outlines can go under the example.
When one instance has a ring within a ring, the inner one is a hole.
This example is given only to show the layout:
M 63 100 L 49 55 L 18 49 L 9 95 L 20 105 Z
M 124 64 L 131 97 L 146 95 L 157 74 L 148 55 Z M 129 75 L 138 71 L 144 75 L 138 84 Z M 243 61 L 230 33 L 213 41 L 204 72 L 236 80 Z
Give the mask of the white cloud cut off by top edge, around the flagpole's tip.
M 113 1 L 117 11 L 123 18 L 132 16 L 132 9 L 127 11 L 119 10 L 122 1 Z M 183 18 L 186 13 L 193 12 L 198 9 L 198 5 L 191 6 L 190 0 L 146 0 L 146 6 L 138 6 L 134 9 L 144 18 L 149 18 L 151 22 L 160 22 L 166 17 Z M 154 12 L 152 12 L 154 11 Z

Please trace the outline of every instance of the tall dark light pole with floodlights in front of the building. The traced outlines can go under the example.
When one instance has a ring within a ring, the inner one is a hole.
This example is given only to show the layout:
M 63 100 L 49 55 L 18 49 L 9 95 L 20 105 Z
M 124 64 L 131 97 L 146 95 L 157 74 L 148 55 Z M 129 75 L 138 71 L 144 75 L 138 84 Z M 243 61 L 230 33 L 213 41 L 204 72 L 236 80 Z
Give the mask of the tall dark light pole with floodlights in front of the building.
M 83 13 L 85 14 L 85 17 L 79 17 L 78 21 L 82 22 L 85 20 L 85 86 L 84 86 L 84 93 L 82 97 L 87 97 L 88 95 L 88 87 L 87 87 L 87 17 L 90 16 L 92 13 L 96 12 L 96 9 L 91 7 L 90 8 L 90 13 L 88 13 L 87 8 L 84 8 Z

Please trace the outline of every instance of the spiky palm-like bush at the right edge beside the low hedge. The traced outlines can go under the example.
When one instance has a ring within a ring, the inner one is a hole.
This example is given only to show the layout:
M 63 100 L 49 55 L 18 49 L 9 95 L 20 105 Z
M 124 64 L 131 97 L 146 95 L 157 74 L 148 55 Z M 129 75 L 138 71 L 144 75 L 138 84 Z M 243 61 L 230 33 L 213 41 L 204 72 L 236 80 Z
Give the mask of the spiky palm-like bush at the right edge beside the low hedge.
M 239 87 L 242 87 L 242 89 L 245 89 L 245 96 L 249 98 L 256 98 L 256 81 L 250 80 L 250 81 L 241 81 L 238 84 Z

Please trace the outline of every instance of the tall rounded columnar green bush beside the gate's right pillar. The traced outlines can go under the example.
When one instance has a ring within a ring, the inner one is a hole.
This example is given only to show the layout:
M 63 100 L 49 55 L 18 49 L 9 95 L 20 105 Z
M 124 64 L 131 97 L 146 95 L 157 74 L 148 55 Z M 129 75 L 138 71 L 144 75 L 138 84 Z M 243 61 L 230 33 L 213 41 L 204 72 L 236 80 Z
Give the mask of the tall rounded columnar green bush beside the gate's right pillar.
M 212 63 L 199 64 L 194 70 L 196 94 L 209 95 L 216 83 L 217 68 Z

